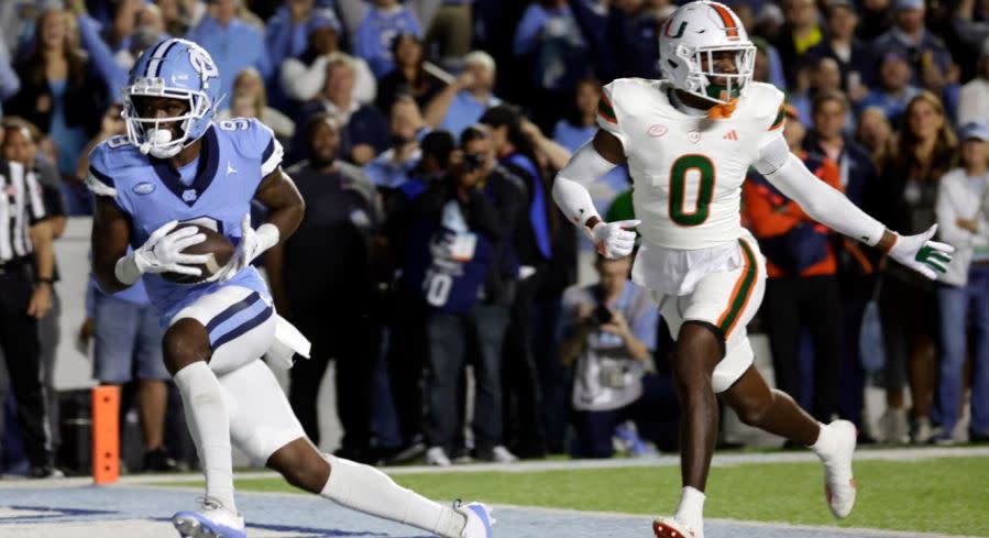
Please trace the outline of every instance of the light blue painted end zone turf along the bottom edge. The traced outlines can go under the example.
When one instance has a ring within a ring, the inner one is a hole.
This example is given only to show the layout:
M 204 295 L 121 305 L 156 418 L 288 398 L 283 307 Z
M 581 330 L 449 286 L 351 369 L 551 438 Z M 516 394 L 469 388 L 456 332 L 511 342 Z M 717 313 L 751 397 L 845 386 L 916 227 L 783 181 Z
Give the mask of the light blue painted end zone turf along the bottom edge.
M 172 514 L 195 508 L 200 492 L 141 487 L 0 487 L 0 508 L 46 512 L 31 516 L 0 519 L 0 538 L 67 537 L 65 529 L 86 526 L 86 532 L 99 528 L 101 521 L 130 521 L 139 527 L 163 526 Z M 248 523 L 249 535 L 279 538 L 427 538 L 413 527 L 360 514 L 318 497 L 265 493 L 239 493 L 238 508 Z M 477 499 L 484 502 L 484 498 Z M 822 509 L 824 499 L 821 499 Z M 647 516 L 583 514 L 494 506 L 493 536 L 497 538 L 645 538 L 652 536 Z M 133 534 L 101 530 L 95 538 L 138 538 Z M 143 528 L 143 527 L 142 527 Z M 39 535 L 39 532 L 41 532 Z M 176 538 L 178 532 L 143 532 L 140 538 Z M 79 536 L 87 536 L 85 534 Z M 707 538 L 850 538 L 869 536 L 835 528 L 792 528 L 707 521 Z M 876 536 L 876 535 L 871 535 Z M 887 534 L 884 536 L 893 536 Z M 895 534 L 897 538 L 916 538 L 915 532 Z M 72 538 L 76 538 L 72 535 Z

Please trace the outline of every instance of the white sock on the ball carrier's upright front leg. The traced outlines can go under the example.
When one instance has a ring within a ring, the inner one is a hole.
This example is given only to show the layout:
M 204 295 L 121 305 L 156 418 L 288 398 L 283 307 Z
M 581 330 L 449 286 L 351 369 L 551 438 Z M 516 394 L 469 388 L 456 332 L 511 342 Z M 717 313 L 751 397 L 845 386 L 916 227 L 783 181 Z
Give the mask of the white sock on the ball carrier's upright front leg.
M 230 417 L 223 388 L 205 361 L 197 361 L 173 376 L 186 410 L 186 424 L 196 441 L 206 495 L 237 513 L 233 502 L 233 461 L 230 452 Z

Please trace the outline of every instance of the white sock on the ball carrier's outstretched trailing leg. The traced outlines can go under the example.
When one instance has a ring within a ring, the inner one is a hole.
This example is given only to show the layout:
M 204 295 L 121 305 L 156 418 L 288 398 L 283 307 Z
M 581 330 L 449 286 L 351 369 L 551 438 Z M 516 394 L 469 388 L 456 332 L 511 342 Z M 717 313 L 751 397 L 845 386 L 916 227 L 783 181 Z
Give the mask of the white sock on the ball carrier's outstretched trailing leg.
M 446 538 L 460 538 L 466 518 L 451 506 L 432 502 L 396 484 L 387 474 L 333 455 L 330 479 L 320 495 L 348 508 L 384 517 Z

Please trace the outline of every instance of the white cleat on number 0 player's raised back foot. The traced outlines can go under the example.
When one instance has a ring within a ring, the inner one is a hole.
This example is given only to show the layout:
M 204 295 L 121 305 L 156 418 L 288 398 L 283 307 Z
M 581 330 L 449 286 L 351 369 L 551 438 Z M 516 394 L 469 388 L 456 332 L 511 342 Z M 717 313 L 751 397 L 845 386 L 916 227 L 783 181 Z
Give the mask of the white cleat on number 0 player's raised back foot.
M 858 433 L 848 420 L 835 420 L 825 426 L 821 435 L 831 437 L 827 452 L 817 454 L 824 462 L 824 494 L 832 515 L 844 519 L 855 507 L 851 459 Z

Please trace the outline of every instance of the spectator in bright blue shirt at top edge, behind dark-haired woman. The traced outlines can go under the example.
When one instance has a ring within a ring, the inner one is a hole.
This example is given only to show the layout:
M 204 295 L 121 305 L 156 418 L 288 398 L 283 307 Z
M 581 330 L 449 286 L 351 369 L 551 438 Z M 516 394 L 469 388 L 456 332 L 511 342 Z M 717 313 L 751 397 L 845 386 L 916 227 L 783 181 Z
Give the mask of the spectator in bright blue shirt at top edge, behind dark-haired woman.
M 399 34 L 422 37 L 422 29 L 411 10 L 398 0 L 374 0 L 353 36 L 354 55 L 364 58 L 376 78 L 395 68 L 392 58 L 392 40 Z

